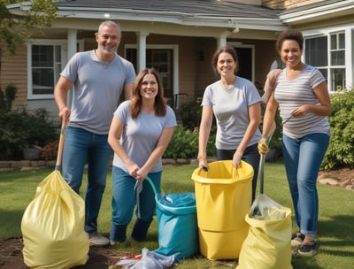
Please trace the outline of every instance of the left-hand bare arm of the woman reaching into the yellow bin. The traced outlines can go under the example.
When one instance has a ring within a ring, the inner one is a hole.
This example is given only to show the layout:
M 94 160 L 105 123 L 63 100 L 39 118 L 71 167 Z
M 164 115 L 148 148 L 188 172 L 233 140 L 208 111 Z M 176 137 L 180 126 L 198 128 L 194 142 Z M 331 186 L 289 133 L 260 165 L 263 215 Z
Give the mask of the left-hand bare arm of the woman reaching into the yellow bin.
M 199 151 L 198 161 L 199 167 L 207 166 L 206 144 L 209 140 L 209 135 L 212 130 L 212 106 L 203 106 L 202 119 L 199 127 Z

